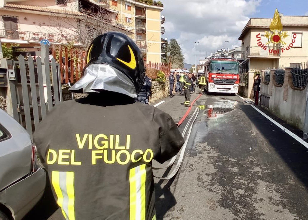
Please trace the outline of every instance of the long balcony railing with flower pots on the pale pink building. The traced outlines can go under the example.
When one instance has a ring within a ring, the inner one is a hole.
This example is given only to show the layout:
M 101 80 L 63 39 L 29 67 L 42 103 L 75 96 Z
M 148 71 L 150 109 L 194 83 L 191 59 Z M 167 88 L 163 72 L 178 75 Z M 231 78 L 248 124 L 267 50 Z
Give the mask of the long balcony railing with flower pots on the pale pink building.
M 0 35 L 5 35 L 7 36 L 8 39 L 17 39 L 17 40 L 41 41 L 43 39 L 47 39 L 49 40 L 49 42 L 81 43 L 79 36 L 76 35 L 62 35 L 62 34 L 41 33 L 32 31 L 16 31 L 16 30 L 5 30 L 5 29 L 0 29 Z

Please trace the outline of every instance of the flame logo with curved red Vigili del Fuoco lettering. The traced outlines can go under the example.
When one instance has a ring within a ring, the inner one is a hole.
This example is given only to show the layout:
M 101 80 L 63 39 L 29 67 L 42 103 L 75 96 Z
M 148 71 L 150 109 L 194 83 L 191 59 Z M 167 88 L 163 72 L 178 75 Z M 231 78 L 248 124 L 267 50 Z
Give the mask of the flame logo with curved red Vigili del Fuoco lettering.
M 295 43 L 296 41 L 296 34 L 294 33 L 292 36 L 292 42 L 288 45 L 286 43 L 287 38 L 289 35 L 287 35 L 287 31 L 282 31 L 283 26 L 281 23 L 281 19 L 278 13 L 278 10 L 275 10 L 275 14 L 273 17 L 273 21 L 270 23 L 270 30 L 271 31 L 265 31 L 265 35 L 264 37 L 266 37 L 268 39 L 268 42 L 263 43 L 261 40 L 261 33 L 257 34 L 257 44 L 259 47 L 261 47 L 263 50 L 268 51 L 269 53 L 272 54 L 279 54 L 279 50 L 281 50 L 281 52 L 285 52 L 290 50 L 290 48 L 293 47 L 293 43 Z M 286 40 L 285 40 L 286 39 Z M 268 46 L 270 43 L 274 44 L 274 47 L 276 47 L 276 49 L 268 49 Z M 279 45 L 281 44 L 280 48 Z

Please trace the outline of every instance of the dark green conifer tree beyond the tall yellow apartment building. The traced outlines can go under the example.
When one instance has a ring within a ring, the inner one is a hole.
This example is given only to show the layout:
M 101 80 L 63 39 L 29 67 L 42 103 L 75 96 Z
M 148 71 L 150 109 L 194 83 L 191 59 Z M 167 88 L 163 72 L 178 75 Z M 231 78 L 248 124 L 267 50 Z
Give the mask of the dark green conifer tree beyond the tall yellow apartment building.
M 167 48 L 171 55 L 171 66 L 173 69 L 184 68 L 184 56 L 182 54 L 182 49 L 175 38 L 170 40 Z

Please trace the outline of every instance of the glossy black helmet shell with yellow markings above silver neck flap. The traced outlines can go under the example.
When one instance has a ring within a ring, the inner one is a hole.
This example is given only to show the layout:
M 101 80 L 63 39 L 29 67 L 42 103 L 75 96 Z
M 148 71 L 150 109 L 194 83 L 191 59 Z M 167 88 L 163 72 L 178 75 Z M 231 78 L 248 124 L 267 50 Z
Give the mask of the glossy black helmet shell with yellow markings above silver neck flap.
M 145 67 L 142 52 L 123 33 L 112 31 L 96 37 L 87 51 L 86 63 L 87 66 L 102 63 L 118 69 L 132 81 L 137 94 L 143 85 Z

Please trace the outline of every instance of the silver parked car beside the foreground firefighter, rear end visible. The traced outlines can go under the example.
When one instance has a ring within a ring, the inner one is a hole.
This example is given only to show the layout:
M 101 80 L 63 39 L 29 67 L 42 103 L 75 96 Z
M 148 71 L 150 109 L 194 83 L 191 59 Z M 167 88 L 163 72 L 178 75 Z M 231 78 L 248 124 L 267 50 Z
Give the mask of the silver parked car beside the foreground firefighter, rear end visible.
M 46 171 L 36 147 L 14 118 L 0 109 L 0 220 L 20 220 L 39 201 Z

